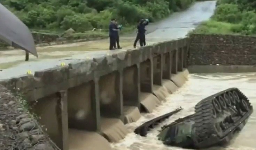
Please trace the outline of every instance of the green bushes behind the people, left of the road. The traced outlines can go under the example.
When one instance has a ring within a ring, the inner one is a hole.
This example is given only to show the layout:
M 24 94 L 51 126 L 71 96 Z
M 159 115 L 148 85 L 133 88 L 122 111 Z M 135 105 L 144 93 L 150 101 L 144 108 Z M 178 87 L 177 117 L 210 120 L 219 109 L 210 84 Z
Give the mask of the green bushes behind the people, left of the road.
M 32 31 L 63 33 L 72 28 L 76 37 L 93 28 L 107 34 L 110 19 L 115 17 L 131 31 L 140 18 L 151 22 L 188 8 L 194 0 L 1 0 L 1 3 L 20 18 Z

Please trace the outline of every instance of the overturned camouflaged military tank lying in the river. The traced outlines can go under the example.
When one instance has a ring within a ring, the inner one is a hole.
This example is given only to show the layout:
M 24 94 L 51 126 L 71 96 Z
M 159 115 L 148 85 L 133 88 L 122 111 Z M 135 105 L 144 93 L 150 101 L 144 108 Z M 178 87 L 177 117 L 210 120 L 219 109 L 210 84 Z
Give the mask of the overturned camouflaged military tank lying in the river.
M 248 98 L 230 88 L 202 99 L 195 113 L 162 127 L 158 139 L 166 145 L 202 149 L 228 143 L 253 112 Z

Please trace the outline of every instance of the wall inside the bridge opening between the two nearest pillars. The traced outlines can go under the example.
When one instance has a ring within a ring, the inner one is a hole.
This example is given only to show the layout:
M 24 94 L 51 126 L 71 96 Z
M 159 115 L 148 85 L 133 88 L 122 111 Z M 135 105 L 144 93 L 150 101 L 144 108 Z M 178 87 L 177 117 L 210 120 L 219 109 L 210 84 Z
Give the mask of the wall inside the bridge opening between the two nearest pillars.
M 89 81 L 68 89 L 69 128 L 88 131 L 96 130 L 95 113 L 92 111 L 94 101 L 94 82 Z

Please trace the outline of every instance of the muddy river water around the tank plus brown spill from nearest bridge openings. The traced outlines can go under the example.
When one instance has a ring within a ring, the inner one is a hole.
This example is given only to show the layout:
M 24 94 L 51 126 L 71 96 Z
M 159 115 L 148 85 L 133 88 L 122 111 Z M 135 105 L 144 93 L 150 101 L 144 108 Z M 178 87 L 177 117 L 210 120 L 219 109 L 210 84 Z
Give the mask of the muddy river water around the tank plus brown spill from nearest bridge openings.
M 221 90 L 225 90 L 231 87 L 239 88 L 250 100 L 251 104 L 256 107 L 256 73 L 240 73 L 240 74 L 189 74 L 188 81 L 179 88 L 176 92 L 169 95 L 166 101 L 159 101 L 158 106 L 152 111 L 152 113 L 141 113 L 141 117 L 138 121 L 130 124 L 123 125 L 118 120 L 106 120 L 104 118 L 102 128 L 104 134 L 108 134 L 111 137 L 109 140 L 116 142 L 111 143 L 113 150 L 185 150 L 178 147 L 171 147 L 162 144 L 157 140 L 157 134 L 161 129 L 161 126 L 173 122 L 174 120 L 185 117 L 194 113 L 194 106 L 201 99 L 215 94 Z M 173 115 L 168 120 L 159 124 L 155 130 L 148 132 L 147 137 L 136 135 L 132 131 L 141 125 L 142 123 L 151 120 L 157 116 L 168 113 L 178 107 L 182 106 L 184 109 L 176 115 Z M 107 126 L 106 126 L 107 124 Z M 109 127 L 108 127 L 109 126 Z M 111 127 L 110 127 L 111 126 Z M 230 144 L 225 147 L 212 147 L 208 150 L 256 150 L 256 112 L 254 112 L 243 130 L 235 137 Z M 112 129 L 114 127 L 114 130 Z M 129 132 L 126 136 L 125 134 Z M 99 143 L 103 143 L 102 147 L 97 145 L 98 150 L 111 150 L 106 144 L 106 139 L 102 138 L 95 133 L 85 133 L 83 131 L 70 130 L 72 137 L 78 135 L 81 138 L 70 138 L 70 148 L 72 150 L 82 150 L 83 148 L 94 148 L 91 144 L 93 142 L 86 142 L 88 136 L 90 139 L 97 140 Z M 94 136 L 92 136 L 92 134 Z M 123 140 L 122 137 L 125 138 Z M 82 142 L 85 141 L 85 142 Z M 78 146 L 77 143 L 80 143 Z M 73 145 L 74 144 L 74 145 Z

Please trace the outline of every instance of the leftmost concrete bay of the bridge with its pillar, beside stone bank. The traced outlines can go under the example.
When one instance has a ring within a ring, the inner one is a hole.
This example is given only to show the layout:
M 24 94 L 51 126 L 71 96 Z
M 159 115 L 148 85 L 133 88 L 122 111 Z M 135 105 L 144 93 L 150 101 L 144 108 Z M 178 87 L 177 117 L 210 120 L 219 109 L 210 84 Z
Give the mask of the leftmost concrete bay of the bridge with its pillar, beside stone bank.
M 68 143 L 67 94 L 65 91 L 53 93 L 29 102 L 33 113 L 38 116 L 42 130 L 62 150 Z

